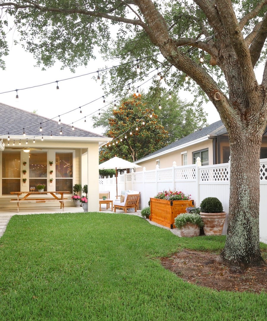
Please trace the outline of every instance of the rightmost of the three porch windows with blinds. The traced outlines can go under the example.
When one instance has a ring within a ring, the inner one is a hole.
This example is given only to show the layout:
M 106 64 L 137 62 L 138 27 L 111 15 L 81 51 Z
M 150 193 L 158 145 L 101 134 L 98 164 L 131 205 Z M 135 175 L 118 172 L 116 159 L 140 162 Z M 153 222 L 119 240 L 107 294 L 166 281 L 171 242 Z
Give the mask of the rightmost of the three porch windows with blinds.
M 56 191 L 70 191 L 73 182 L 73 155 L 72 152 L 56 153 Z

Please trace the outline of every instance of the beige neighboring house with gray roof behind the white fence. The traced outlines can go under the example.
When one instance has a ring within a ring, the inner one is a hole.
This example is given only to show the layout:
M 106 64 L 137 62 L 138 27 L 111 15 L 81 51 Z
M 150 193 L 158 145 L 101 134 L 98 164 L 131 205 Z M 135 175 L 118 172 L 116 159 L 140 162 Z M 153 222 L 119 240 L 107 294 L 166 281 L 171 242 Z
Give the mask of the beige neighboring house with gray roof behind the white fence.
M 146 170 L 171 167 L 173 162 L 177 166 L 191 165 L 200 157 L 201 165 L 227 163 L 230 156 L 229 137 L 225 126 L 219 120 L 178 141 L 171 143 L 137 161 L 136 164 Z M 267 134 L 263 134 L 260 158 L 267 158 Z M 136 169 L 141 171 L 142 168 Z

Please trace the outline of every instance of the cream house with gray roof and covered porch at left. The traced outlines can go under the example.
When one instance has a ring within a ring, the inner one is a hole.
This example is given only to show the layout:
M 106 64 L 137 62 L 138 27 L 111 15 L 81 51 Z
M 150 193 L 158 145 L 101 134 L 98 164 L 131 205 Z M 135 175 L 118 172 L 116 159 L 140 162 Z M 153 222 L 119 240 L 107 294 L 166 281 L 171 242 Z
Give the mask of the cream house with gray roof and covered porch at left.
M 98 149 L 111 138 L 3 103 L 0 112 L 0 206 L 15 208 L 10 192 L 27 192 L 37 184 L 44 184 L 45 191 L 69 191 L 68 199 L 74 184 L 87 184 L 88 211 L 98 211 Z

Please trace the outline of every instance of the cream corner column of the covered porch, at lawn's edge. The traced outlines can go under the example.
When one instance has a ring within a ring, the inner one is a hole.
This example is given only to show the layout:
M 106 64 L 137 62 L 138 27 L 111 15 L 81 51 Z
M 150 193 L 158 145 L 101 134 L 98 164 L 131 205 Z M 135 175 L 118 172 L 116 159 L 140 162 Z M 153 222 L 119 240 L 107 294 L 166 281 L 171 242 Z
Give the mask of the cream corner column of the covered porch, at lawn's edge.
M 97 156 L 96 156 L 97 155 Z M 99 211 L 98 142 L 90 144 L 87 153 L 88 166 L 88 212 Z

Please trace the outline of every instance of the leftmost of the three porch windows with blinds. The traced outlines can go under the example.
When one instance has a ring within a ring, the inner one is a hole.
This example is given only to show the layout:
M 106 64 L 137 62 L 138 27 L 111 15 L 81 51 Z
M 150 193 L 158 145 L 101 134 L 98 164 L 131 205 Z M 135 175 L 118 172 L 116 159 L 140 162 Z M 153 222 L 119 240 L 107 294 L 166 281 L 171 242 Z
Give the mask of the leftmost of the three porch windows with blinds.
M 21 190 L 21 152 L 2 152 L 2 195 Z

